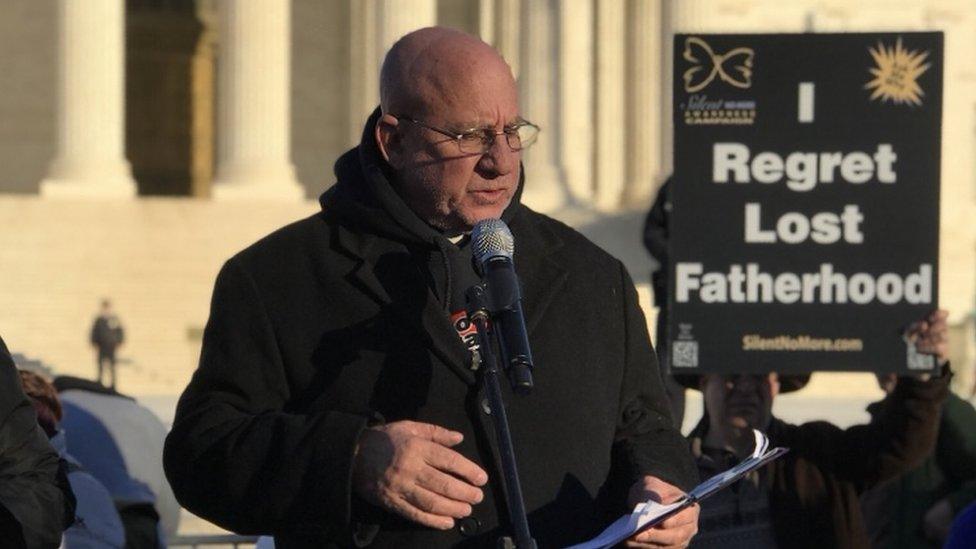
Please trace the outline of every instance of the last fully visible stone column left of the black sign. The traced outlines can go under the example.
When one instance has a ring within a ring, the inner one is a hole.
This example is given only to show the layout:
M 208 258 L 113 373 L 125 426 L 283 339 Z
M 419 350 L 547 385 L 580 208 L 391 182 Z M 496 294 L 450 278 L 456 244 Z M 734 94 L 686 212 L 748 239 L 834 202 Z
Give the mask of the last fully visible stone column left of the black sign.
M 628 3 L 627 173 L 623 200 L 650 206 L 661 170 L 661 9 L 656 0 Z

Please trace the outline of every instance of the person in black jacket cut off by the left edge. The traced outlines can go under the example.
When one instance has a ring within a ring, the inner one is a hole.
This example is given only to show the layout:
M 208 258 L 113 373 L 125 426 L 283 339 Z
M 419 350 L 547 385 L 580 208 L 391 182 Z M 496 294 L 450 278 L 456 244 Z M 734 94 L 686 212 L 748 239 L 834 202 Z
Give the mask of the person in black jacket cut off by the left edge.
M 5 549 L 58 547 L 74 516 L 66 468 L 0 338 L 0 542 Z

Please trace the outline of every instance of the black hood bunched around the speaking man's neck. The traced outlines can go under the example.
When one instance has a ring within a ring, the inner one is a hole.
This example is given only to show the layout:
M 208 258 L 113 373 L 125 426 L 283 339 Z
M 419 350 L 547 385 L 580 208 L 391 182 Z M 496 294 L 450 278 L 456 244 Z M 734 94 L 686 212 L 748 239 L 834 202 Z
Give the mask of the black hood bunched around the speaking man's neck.
M 444 233 L 420 219 L 397 194 L 396 175 L 380 154 L 374 138 L 374 127 L 380 114 L 377 107 L 366 120 L 359 146 L 336 160 L 337 182 L 322 193 L 319 204 L 323 210 L 338 212 L 344 224 L 362 232 L 437 247 L 437 239 L 443 238 Z M 525 172 L 520 166 L 518 188 L 512 202 L 502 212 L 506 223 L 521 207 L 524 184 Z

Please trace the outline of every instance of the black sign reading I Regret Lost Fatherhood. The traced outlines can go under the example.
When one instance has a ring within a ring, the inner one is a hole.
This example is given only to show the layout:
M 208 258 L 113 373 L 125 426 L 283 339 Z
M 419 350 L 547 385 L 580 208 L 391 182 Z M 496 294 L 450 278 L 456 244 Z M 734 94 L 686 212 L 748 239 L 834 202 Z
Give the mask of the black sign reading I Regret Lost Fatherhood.
M 673 372 L 934 367 L 942 44 L 675 37 Z

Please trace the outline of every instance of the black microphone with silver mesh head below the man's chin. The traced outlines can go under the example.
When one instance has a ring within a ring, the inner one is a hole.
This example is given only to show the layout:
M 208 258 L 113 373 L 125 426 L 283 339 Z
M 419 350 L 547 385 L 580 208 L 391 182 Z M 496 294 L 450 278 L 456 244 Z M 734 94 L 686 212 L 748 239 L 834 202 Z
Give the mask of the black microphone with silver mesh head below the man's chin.
M 501 219 L 485 219 L 471 231 L 474 268 L 484 280 L 488 312 L 502 361 L 509 372 L 512 389 L 521 395 L 532 391 L 532 351 L 522 314 L 522 293 L 512 255 L 515 239 Z

